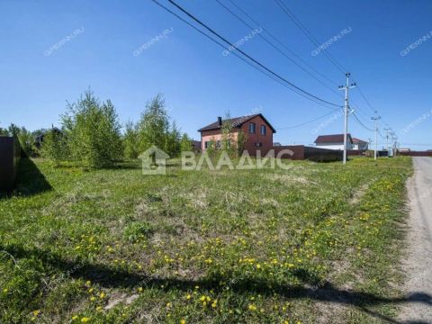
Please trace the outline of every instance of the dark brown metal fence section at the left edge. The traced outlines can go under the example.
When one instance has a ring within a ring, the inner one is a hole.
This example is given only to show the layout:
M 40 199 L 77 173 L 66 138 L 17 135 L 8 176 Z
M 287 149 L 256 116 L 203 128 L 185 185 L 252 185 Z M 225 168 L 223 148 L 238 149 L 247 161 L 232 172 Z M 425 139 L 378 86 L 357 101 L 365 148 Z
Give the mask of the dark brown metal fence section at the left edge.
M 0 191 L 14 189 L 20 146 L 13 137 L 0 137 Z

